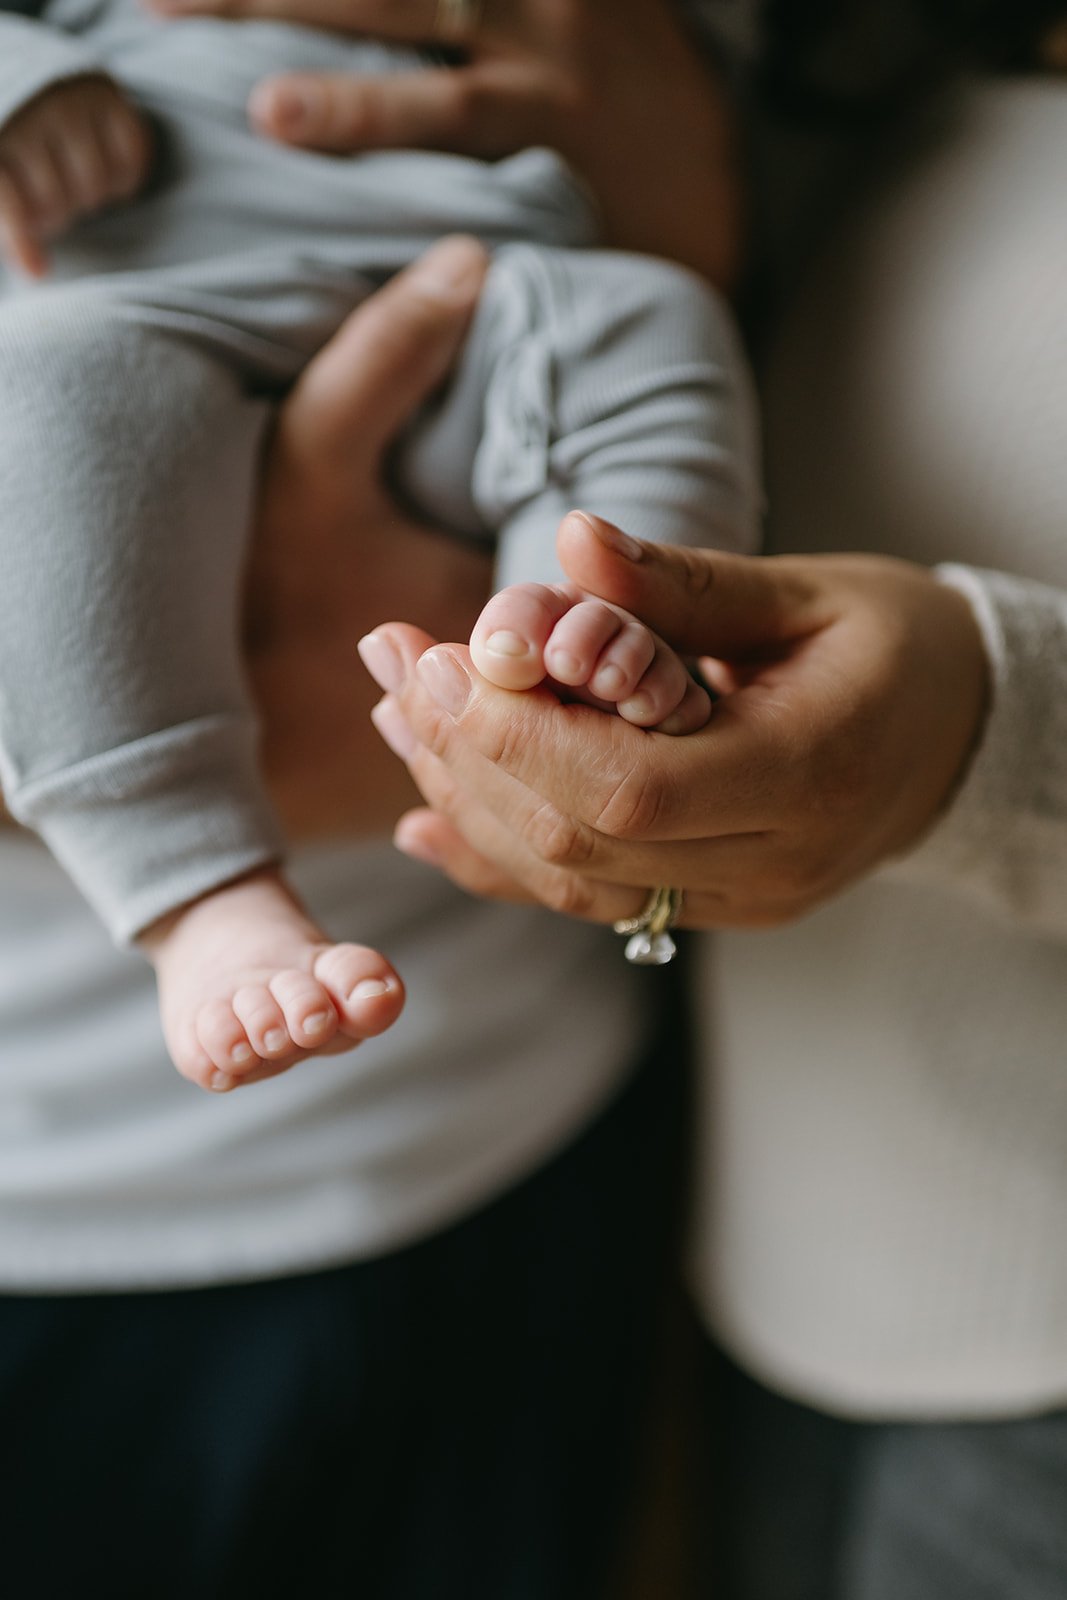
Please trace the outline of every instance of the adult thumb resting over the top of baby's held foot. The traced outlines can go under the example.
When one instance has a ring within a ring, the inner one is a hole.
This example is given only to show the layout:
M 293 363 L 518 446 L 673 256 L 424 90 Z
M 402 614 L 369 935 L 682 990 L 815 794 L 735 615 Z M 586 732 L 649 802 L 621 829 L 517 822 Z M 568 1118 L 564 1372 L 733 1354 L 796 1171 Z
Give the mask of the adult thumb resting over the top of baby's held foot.
M 688 656 L 758 656 L 827 616 L 809 563 L 789 557 L 651 544 L 589 512 L 563 518 L 557 552 L 581 589 L 632 611 Z

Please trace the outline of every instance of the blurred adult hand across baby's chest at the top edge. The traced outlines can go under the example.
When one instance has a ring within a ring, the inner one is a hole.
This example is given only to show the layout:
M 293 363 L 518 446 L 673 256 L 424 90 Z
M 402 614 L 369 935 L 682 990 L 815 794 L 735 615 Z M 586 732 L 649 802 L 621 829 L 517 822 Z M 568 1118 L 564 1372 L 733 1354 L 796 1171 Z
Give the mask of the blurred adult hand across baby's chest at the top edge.
M 168 16 L 286 18 L 408 43 L 438 0 L 149 0 Z M 496 158 L 547 144 L 597 195 L 608 243 L 670 256 L 720 288 L 736 275 L 733 118 L 672 0 L 488 0 L 464 62 L 381 78 L 286 74 L 250 102 L 288 144 L 421 147 Z M 440 43 L 440 38 L 437 40 Z

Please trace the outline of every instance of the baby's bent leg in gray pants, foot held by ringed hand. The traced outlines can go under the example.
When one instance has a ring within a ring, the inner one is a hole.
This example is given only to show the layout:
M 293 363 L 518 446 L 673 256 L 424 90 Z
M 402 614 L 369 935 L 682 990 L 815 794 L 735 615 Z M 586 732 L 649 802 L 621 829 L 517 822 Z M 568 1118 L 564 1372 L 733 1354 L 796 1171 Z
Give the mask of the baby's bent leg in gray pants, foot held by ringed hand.
M 688 730 L 707 701 L 661 640 L 528 581 L 560 576 L 555 533 L 576 506 L 643 538 L 753 549 L 757 456 L 744 355 L 712 290 L 643 256 L 522 245 L 496 256 L 448 405 L 405 466 L 445 520 L 499 530 L 498 578 L 518 587 L 475 627 L 486 677 L 552 677 L 633 722 Z M 456 462 L 472 462 L 466 499 Z

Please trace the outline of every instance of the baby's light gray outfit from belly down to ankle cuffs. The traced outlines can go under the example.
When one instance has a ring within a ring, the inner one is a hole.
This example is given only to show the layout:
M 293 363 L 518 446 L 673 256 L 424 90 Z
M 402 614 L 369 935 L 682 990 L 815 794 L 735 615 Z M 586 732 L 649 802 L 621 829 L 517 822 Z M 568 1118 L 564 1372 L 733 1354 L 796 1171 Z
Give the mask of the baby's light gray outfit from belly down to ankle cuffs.
M 342 162 L 150 74 L 133 91 L 162 130 L 152 189 L 0 298 L 0 781 L 122 941 L 282 850 L 238 648 L 264 427 L 442 232 L 496 254 L 398 485 L 494 539 L 501 582 L 557 576 L 571 506 L 739 549 L 758 499 L 723 306 L 680 269 L 573 248 L 592 219 L 547 152 Z

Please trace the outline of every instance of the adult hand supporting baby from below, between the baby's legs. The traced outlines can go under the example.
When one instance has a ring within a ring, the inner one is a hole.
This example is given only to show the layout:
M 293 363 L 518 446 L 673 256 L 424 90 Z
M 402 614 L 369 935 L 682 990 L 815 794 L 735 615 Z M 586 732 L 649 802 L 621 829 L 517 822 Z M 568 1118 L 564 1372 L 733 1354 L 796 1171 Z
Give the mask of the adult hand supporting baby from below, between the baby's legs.
M 293 835 L 389 832 L 414 798 L 368 722 L 360 634 L 405 610 L 462 637 L 490 592 L 488 557 L 400 512 L 381 470 L 458 355 L 485 270 L 477 243 L 448 240 L 402 272 L 310 363 L 270 440 L 246 635 L 266 771 Z

